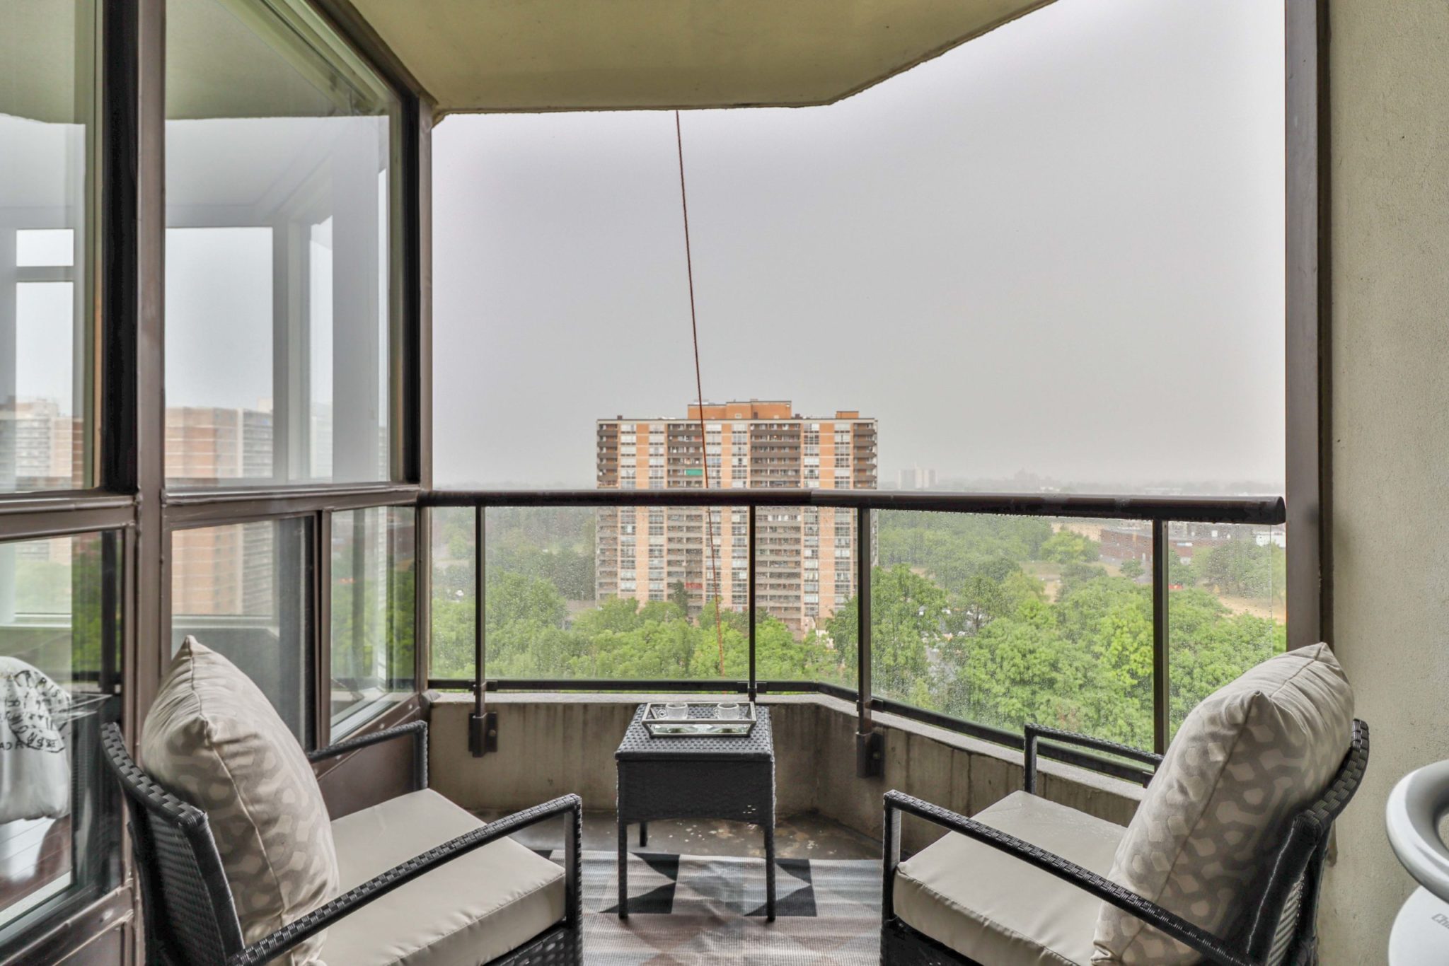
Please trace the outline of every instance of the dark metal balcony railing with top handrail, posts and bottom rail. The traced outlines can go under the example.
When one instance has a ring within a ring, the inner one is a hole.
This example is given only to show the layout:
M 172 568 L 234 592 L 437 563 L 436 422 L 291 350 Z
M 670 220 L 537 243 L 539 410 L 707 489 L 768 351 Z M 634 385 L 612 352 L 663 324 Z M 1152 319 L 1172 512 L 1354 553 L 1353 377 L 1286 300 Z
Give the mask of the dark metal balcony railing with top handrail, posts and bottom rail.
M 474 714 L 469 727 L 469 747 L 474 755 L 491 750 L 496 740 L 493 717 L 487 713 L 488 691 L 680 691 L 680 692 L 819 692 L 839 697 L 856 705 L 856 762 L 862 775 L 878 773 L 881 747 L 872 713 L 887 711 L 962 734 L 1024 749 L 1022 734 L 987 724 L 966 721 L 901 701 L 882 698 L 871 688 L 871 568 L 875 562 L 871 514 L 877 510 L 913 510 L 926 513 L 969 513 L 995 516 L 1068 517 L 1097 520 L 1149 521 L 1152 524 L 1152 655 L 1153 655 L 1153 752 L 1166 750 L 1169 736 L 1168 689 L 1168 524 L 1224 523 L 1278 526 L 1287 521 L 1282 497 L 1156 497 L 1156 495 L 1068 495 L 1068 494 L 981 494 L 981 492 L 894 492 L 882 490 L 455 490 L 419 494 L 420 507 L 471 507 L 475 511 L 474 546 L 474 678 L 472 681 L 430 679 L 433 688 L 467 688 L 474 694 Z M 490 507 L 748 507 L 749 508 L 749 675 L 745 681 L 569 681 L 549 679 L 490 679 L 487 678 L 485 647 L 485 530 L 484 513 Z M 858 688 L 843 688 L 823 681 L 768 682 L 755 676 L 755 508 L 756 507 L 838 507 L 856 514 L 858 568 L 856 607 Z M 1114 759 L 1068 747 L 1043 746 L 1043 757 L 1082 768 L 1143 781 L 1143 772 Z

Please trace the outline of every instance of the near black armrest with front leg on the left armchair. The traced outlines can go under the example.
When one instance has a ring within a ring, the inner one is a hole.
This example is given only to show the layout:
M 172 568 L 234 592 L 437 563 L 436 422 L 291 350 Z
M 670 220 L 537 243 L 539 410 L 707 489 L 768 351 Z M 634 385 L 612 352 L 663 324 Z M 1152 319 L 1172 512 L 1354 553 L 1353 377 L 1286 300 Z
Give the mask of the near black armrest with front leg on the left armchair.
M 404 726 L 406 727 L 406 726 Z M 264 936 L 242 952 L 227 960 L 227 966 L 261 966 L 277 956 L 293 949 L 298 943 L 312 938 L 338 920 L 356 912 L 368 902 L 380 899 L 393 889 L 407 885 L 413 879 L 432 872 L 445 862 L 468 854 L 490 843 L 504 839 L 540 821 L 571 815 L 569 831 L 564 836 L 564 921 L 578 928 L 581 925 L 582 908 L 582 869 L 580 866 L 580 850 L 584 836 L 584 799 L 578 795 L 564 795 L 554 801 L 533 805 L 523 811 L 513 812 L 498 821 L 488 823 L 483 828 L 458 836 L 443 844 L 429 849 L 420 856 L 388 869 L 387 872 L 368 879 L 362 885 L 343 892 L 338 898 L 288 923 L 275 933 Z

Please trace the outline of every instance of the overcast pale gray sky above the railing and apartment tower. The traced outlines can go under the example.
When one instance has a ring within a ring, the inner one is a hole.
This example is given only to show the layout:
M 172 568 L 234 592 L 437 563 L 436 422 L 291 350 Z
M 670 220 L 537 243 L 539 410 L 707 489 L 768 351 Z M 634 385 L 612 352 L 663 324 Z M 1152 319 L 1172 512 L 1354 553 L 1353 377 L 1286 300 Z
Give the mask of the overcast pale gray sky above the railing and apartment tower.
M 687 112 L 704 395 L 880 419 L 881 485 L 1277 484 L 1282 6 L 1059 0 L 827 107 Z M 439 485 L 594 479 L 694 398 L 674 116 L 435 135 Z

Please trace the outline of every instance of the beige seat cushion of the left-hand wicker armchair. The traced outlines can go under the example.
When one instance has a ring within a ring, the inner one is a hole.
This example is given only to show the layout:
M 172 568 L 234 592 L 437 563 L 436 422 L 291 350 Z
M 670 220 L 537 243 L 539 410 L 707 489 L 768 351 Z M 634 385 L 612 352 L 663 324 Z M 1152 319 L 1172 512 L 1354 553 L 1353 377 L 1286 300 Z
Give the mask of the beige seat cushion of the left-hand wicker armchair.
M 332 823 L 342 891 L 483 823 L 432 791 Z M 564 918 L 564 869 L 501 839 L 369 902 L 327 931 L 327 966 L 480 966 Z

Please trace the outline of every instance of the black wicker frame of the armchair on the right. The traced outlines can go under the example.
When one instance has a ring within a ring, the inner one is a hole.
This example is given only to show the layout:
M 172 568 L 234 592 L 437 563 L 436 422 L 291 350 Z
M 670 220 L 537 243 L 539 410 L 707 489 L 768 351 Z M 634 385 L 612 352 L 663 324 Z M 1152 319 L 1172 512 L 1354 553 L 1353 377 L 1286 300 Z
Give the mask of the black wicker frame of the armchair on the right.
M 1039 737 L 1080 744 L 1143 763 L 1161 762 L 1159 756 L 1137 749 L 1069 731 L 1029 726 L 1026 791 L 1033 791 L 1036 786 L 1036 739 Z M 1355 721 L 1352 744 L 1343 757 L 1343 765 L 1339 766 L 1337 775 L 1323 797 L 1293 817 L 1287 834 L 1278 844 L 1272 872 L 1264 883 L 1258 904 L 1245 914 L 1243 928 L 1237 930 L 1239 938 L 1235 940 L 1213 936 L 1130 889 L 1088 872 L 1061 856 L 1037 849 L 1029 841 L 1022 841 L 919 798 L 897 791 L 885 792 L 881 962 L 891 966 L 975 966 L 972 960 L 922 936 L 895 915 L 893 891 L 901 854 L 900 815 L 906 812 L 1010 853 L 1027 865 L 1065 879 L 1103 902 L 1110 902 L 1171 936 L 1201 954 L 1204 962 L 1219 966 L 1308 966 L 1316 963 L 1319 886 L 1323 878 L 1329 830 L 1333 827 L 1333 820 L 1353 798 L 1353 792 L 1358 791 L 1366 766 L 1368 726 Z

